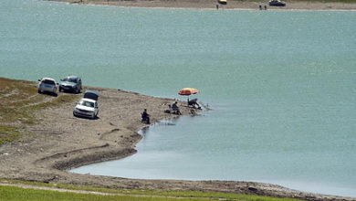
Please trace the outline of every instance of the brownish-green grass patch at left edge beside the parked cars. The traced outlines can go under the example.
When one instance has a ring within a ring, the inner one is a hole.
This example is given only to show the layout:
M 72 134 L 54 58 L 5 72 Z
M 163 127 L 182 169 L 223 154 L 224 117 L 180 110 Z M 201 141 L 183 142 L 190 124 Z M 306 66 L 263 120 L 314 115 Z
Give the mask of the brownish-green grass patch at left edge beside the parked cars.
M 0 144 L 18 140 L 24 126 L 37 122 L 36 113 L 48 107 L 74 102 L 78 96 L 51 97 L 37 93 L 37 83 L 0 78 Z

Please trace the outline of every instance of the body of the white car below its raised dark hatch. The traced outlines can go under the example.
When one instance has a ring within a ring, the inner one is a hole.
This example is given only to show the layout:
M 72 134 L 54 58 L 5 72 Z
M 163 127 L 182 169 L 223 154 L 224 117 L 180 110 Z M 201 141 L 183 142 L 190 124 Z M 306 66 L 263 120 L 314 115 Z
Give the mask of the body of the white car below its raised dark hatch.
M 99 106 L 97 100 L 91 100 L 83 98 L 81 99 L 76 107 L 74 108 L 73 115 L 75 117 L 89 117 L 90 119 L 95 119 L 98 116 Z

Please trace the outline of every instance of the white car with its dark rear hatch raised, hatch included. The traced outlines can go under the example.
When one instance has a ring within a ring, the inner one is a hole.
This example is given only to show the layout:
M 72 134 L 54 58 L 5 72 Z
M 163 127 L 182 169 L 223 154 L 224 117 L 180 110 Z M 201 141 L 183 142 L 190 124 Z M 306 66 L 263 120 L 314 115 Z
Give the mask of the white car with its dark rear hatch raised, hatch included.
M 99 92 L 96 90 L 87 90 L 82 98 L 76 105 L 73 111 L 75 117 L 89 117 L 95 119 L 98 117 L 99 105 L 98 105 Z

